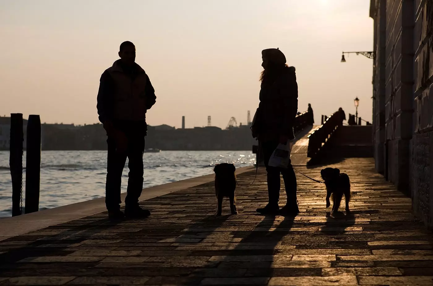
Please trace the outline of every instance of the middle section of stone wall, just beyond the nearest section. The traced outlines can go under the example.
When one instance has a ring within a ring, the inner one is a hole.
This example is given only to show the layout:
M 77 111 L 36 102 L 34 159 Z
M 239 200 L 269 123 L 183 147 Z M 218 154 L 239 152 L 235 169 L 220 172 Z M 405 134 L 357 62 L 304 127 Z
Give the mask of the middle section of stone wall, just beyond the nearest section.
M 414 84 L 414 0 L 387 0 L 385 63 L 386 174 L 410 195 Z

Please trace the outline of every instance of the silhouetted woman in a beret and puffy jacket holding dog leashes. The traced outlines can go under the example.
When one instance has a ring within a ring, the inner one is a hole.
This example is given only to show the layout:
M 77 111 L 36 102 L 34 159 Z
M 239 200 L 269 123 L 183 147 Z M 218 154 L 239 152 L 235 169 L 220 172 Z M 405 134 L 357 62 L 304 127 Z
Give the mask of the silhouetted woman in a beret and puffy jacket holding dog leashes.
M 286 57 L 277 49 L 262 51 L 262 81 L 259 108 L 254 115 L 252 136 L 259 140 L 268 176 L 269 202 L 257 209 L 263 214 L 296 214 L 299 212 L 296 198 L 296 176 L 289 162 L 288 168 L 268 165 L 278 143 L 286 144 L 294 139 L 293 125 L 297 114 L 298 89 L 294 67 L 286 64 Z M 280 173 L 283 175 L 287 204 L 280 210 Z

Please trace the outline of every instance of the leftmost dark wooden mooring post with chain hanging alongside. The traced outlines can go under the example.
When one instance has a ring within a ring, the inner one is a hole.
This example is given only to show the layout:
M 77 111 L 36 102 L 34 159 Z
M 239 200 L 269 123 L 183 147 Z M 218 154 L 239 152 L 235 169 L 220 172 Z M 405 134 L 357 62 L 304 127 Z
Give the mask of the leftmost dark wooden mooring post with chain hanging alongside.
M 10 114 L 9 166 L 12 177 L 12 216 L 23 213 L 23 114 Z

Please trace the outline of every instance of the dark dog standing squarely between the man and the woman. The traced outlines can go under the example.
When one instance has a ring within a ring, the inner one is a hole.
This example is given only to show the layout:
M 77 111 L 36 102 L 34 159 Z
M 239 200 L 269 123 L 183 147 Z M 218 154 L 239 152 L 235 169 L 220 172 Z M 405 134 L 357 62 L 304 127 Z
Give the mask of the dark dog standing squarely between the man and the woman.
M 215 195 L 218 199 L 217 216 L 223 212 L 223 198 L 228 197 L 230 200 L 230 210 L 232 214 L 237 214 L 235 205 L 236 190 L 236 167 L 233 164 L 221 163 L 216 164 L 213 168 L 215 172 Z

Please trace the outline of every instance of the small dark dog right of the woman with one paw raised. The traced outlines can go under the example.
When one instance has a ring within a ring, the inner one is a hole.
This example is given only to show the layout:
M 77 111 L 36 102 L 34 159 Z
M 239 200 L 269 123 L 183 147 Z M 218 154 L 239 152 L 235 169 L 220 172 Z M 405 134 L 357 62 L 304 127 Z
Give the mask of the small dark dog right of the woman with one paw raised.
M 334 213 L 338 212 L 344 194 L 346 213 L 349 213 L 349 201 L 351 197 L 349 176 L 345 173 L 340 173 L 340 169 L 338 168 L 324 168 L 320 171 L 320 175 L 326 185 L 326 207 L 331 205 L 329 198 L 332 195 L 332 211 Z

